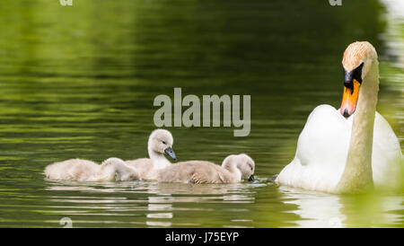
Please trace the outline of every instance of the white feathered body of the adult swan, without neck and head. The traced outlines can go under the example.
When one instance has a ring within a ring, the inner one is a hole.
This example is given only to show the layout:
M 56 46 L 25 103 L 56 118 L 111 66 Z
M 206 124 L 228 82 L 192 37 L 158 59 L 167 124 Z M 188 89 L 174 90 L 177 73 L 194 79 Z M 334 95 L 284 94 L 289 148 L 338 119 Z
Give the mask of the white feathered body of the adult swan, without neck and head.
M 294 160 L 285 166 L 276 181 L 296 188 L 333 192 L 347 162 L 354 118 L 355 114 L 345 119 L 339 110 L 325 104 L 312 110 L 299 136 Z M 401 160 L 399 140 L 386 119 L 376 112 L 372 150 L 374 185 L 400 185 Z

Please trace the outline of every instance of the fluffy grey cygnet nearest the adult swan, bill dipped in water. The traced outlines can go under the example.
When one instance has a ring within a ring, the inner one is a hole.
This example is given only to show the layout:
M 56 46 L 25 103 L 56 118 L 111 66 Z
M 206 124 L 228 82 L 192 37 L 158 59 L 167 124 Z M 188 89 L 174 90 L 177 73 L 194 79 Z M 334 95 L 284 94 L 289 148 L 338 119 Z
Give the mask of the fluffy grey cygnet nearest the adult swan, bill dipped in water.
M 232 154 L 221 166 L 206 161 L 188 161 L 171 165 L 159 171 L 160 182 L 192 184 L 236 183 L 242 179 L 253 180 L 254 161 L 247 154 Z

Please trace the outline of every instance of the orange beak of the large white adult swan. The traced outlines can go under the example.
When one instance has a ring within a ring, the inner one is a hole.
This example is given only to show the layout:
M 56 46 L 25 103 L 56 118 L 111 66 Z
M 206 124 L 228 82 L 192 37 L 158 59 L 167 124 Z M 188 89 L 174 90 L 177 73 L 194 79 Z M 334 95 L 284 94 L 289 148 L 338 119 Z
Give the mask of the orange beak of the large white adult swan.
M 359 97 L 359 88 L 361 83 L 356 79 L 352 80 L 351 86 L 344 86 L 344 93 L 342 96 L 340 112 L 345 117 L 348 118 L 356 110 L 357 99 Z

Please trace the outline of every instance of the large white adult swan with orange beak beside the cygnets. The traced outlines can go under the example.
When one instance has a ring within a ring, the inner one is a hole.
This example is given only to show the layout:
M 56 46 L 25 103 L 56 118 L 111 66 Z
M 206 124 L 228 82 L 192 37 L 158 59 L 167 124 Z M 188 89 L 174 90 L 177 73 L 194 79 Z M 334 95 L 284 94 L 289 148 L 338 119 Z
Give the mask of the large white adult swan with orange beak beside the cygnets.
M 342 66 L 345 87 L 340 109 L 320 105 L 312 111 L 294 160 L 275 182 L 329 193 L 400 186 L 400 142 L 376 112 L 377 53 L 369 42 L 352 43 Z

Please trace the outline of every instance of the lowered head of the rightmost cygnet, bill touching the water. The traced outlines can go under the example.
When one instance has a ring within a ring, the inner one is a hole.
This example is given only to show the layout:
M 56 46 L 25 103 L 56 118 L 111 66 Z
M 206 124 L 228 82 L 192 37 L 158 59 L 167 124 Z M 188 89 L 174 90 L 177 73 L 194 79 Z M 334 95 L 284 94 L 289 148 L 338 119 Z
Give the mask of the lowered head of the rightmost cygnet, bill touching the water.
M 230 166 L 235 166 L 239 171 L 242 173 L 243 180 L 253 181 L 254 178 L 254 170 L 255 170 L 255 163 L 251 159 L 251 157 L 247 154 L 231 154 L 227 156 L 222 166 L 224 168 L 230 168 Z

